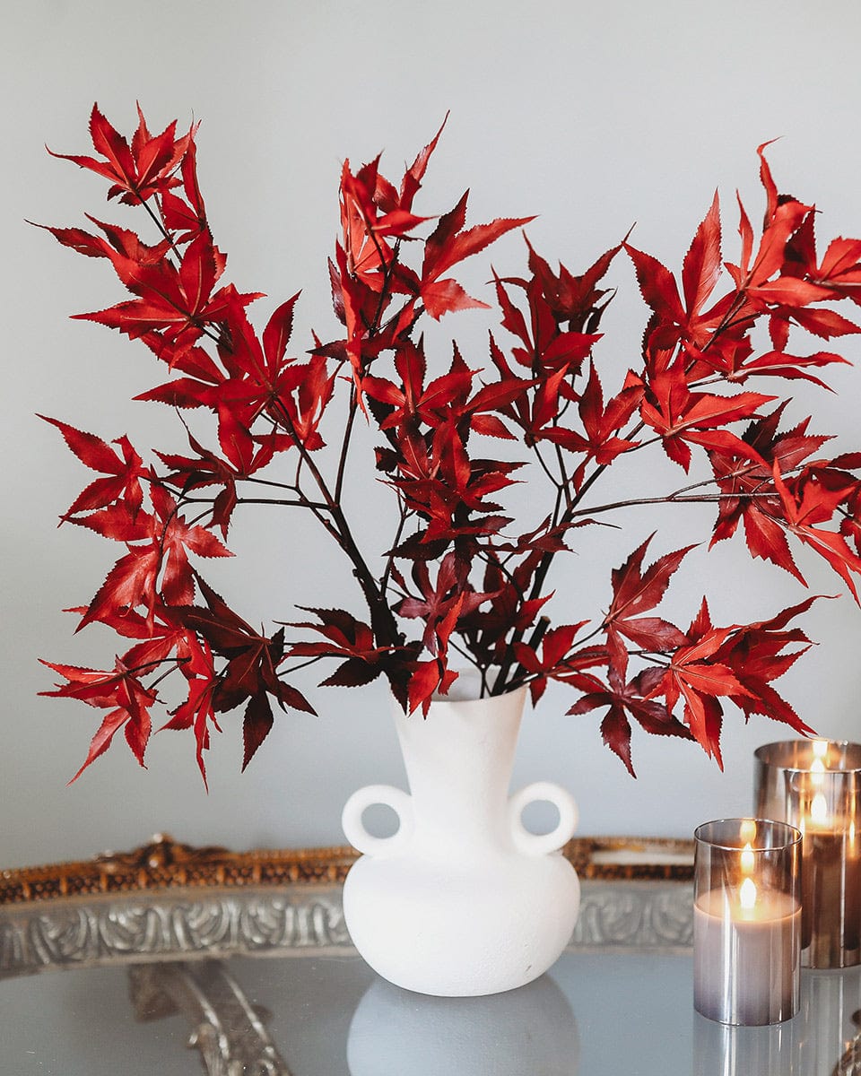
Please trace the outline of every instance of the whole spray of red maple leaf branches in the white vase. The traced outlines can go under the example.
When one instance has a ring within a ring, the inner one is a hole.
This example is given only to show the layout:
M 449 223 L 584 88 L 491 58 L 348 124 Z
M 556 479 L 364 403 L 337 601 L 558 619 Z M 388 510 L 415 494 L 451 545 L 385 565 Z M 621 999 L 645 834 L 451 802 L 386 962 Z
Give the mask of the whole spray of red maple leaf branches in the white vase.
M 498 327 L 488 354 L 464 357 L 454 344 L 440 364 L 422 318 L 490 309 L 454 273 L 532 220 L 468 225 L 466 194 L 448 212 L 415 211 L 441 128 L 398 183 L 379 157 L 355 171 L 343 165 L 328 265 L 340 327 L 315 335 L 300 357 L 290 354 L 298 296 L 258 331 L 249 308 L 262 296 L 226 280 L 196 127 L 178 138 L 172 123 L 153 136 L 139 113 L 129 141 L 94 108 L 90 133 L 96 156 L 55 156 L 107 180 L 108 197 L 140 210 L 149 233 L 95 216 L 95 230 L 47 230 L 113 267 L 129 297 L 79 316 L 142 341 L 165 364 L 166 380 L 138 398 L 181 412 L 186 444 L 146 463 L 126 436 L 109 442 L 47 420 L 97 475 L 61 521 L 122 546 L 76 612 L 80 627 L 101 623 L 130 645 L 104 670 L 46 663 L 63 682 L 45 694 L 105 711 L 82 769 L 121 727 L 143 764 L 157 708 L 165 727 L 193 731 L 204 777 L 217 714 L 241 708 L 245 766 L 272 726 L 272 700 L 311 711 L 294 670 L 331 660 L 323 684 L 382 676 L 425 712 L 458 663 L 472 664 L 490 693 L 528 684 L 537 702 L 556 681 L 575 693 L 569 713 L 599 712 L 605 742 L 632 774 L 634 724 L 695 739 L 718 762 L 730 706 L 809 732 L 773 684 L 809 647 L 794 621 L 814 597 L 750 624 L 712 623 L 704 597 L 682 626 L 663 603 L 691 547 L 647 563 L 654 536 L 639 536 L 609 572 L 606 612 L 549 618 L 551 568 L 577 528 L 654 502 L 714 506 L 706 549 L 740 523 L 752 557 L 804 583 L 800 551 L 818 555 L 859 599 L 861 452 L 823 456 L 829 435 L 810 433 L 810 417 L 787 421 L 775 385 L 828 387 L 824 371 L 846 362 L 803 341 L 861 331 L 836 309 L 861 305 L 861 240 L 834 239 L 820 255 L 815 207 L 778 192 L 764 146 L 763 226 L 758 235 L 739 199 L 734 261 L 722 253 L 717 195 L 678 275 L 627 238 L 579 274 L 554 270 L 527 241 L 523 275 L 492 272 Z M 623 251 L 650 313 L 640 360 L 613 383 L 601 325 Z M 373 468 L 395 506 L 390 540 L 372 557 L 347 496 L 362 421 L 377 435 Z M 611 473 L 649 451 L 686 472 L 677 489 L 598 499 Z M 530 519 L 507 505 L 524 481 L 541 504 Z M 314 608 L 313 621 L 285 618 L 267 633 L 201 578 L 201 558 L 230 555 L 234 512 L 260 502 L 314 518 L 349 562 L 358 615 Z M 180 686 L 173 699 L 168 683 Z

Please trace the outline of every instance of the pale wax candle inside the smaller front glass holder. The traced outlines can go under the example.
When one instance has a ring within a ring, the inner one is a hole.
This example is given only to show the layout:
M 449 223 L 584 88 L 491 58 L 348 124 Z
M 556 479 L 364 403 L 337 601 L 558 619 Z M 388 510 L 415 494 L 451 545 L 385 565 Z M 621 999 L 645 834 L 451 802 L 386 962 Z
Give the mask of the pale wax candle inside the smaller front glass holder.
M 761 1025 L 798 1010 L 801 905 L 752 892 L 716 889 L 694 905 L 694 1006 L 712 1020 Z

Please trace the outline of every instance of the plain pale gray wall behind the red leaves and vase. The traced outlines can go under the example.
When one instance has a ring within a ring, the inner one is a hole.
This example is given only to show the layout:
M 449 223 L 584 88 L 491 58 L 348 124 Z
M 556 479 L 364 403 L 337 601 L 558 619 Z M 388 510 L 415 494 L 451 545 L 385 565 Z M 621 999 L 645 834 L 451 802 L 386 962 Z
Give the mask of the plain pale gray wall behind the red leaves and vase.
M 211 752 L 209 795 L 190 738 L 171 733 L 154 738 L 149 770 L 118 744 L 67 788 L 97 714 L 38 698 L 52 676 L 37 659 L 110 661 L 113 640 L 98 629 L 73 638 L 74 618 L 60 610 L 89 599 L 113 550 L 84 532 L 56 529 L 85 475 L 33 415 L 108 438 L 128 431 L 142 445 L 180 447 L 181 436 L 169 412 L 129 402 L 154 383 L 145 350 L 67 320 L 122 295 L 102 264 L 24 223 L 82 224 L 85 209 L 108 212 L 98 181 L 52 160 L 43 144 L 86 153 L 95 100 L 122 129 L 133 126 L 136 99 L 154 129 L 174 116 L 202 119 L 200 173 L 230 277 L 273 301 L 304 288 L 301 342 L 312 326 L 325 335 L 333 324 L 325 258 L 337 229 L 341 160 L 384 150 L 397 174 L 449 109 L 425 204 L 446 210 L 469 186 L 472 222 L 540 213 L 530 226 L 534 244 L 574 270 L 634 222 L 637 245 L 678 267 L 716 186 L 730 256 L 734 192 L 740 188 L 751 216 L 761 212 L 754 151 L 774 138 L 778 182 L 817 201 L 820 233 L 861 235 L 861 9 L 855 0 L 8 0 L 3 23 L 0 863 L 127 848 L 159 830 L 235 847 L 337 843 L 349 792 L 398 780 L 377 685 L 316 692 L 320 719 L 280 719 L 244 776 L 238 721 L 228 718 Z M 521 254 L 511 237 L 494 263 L 512 271 Z M 470 272 L 470 283 L 483 286 L 486 264 Z M 616 282 L 622 294 L 606 328 L 622 365 L 636 357 L 646 315 L 630 268 L 620 265 Z M 483 356 L 485 324 L 482 315 L 457 315 L 436 339 L 448 354 L 449 335 L 456 335 Z M 848 353 L 857 357 L 858 344 Z M 801 383 L 795 392 L 817 409 L 813 428 L 837 433 L 844 448 L 857 445 L 859 378 L 839 370 L 839 396 L 808 394 Z M 799 416 L 807 406 L 798 405 Z M 367 479 L 354 481 L 362 502 L 373 497 Z M 672 549 L 704 539 L 711 514 L 678 509 L 661 519 L 668 528 L 662 549 Z M 372 530 L 372 511 L 365 521 Z M 589 539 L 555 579 L 561 619 L 594 615 L 606 600 L 608 569 L 655 522 L 632 520 L 618 536 Z M 238 523 L 235 544 L 240 555 L 210 578 L 252 620 L 291 619 L 293 601 L 352 601 L 340 564 L 310 530 L 287 534 L 271 515 L 249 518 Z M 801 563 L 814 590 L 839 589 L 818 565 Z M 801 597 L 786 574 L 752 565 L 735 543 L 708 560 L 704 552 L 689 558 L 679 617 L 706 586 L 724 622 Z M 849 598 L 823 601 L 807 624 L 821 646 L 781 690 L 823 735 L 857 738 L 861 614 Z M 691 745 L 640 735 L 633 781 L 602 746 L 597 719 L 566 718 L 566 706 L 549 693 L 528 714 L 516 779 L 568 785 L 587 833 L 687 836 L 704 819 L 744 813 L 754 747 L 784 735 L 763 720 L 745 727 L 729 719 L 724 774 Z

